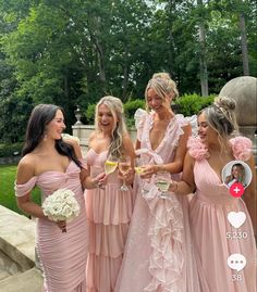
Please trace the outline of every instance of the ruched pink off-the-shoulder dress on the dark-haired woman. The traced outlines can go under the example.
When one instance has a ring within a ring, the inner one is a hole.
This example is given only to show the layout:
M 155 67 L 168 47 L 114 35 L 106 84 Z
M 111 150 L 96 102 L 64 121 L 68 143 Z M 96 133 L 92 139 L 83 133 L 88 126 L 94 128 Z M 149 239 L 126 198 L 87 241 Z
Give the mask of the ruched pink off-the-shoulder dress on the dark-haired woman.
M 58 189 L 75 193 L 79 215 L 66 224 L 66 233 L 48 219 L 37 218 L 36 249 L 44 270 L 45 292 L 85 292 L 88 228 L 85 201 L 79 179 L 81 168 L 71 161 L 65 173 L 46 172 L 24 185 L 15 185 L 17 196 L 25 195 L 37 186 L 41 201 Z

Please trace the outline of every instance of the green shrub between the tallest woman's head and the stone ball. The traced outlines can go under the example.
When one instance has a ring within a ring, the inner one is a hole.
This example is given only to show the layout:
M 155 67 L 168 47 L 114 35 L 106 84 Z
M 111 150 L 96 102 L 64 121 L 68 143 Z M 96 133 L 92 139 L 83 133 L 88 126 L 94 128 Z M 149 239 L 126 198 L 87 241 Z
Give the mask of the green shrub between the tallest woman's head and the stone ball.
M 178 100 L 175 104 L 178 105 L 178 112 L 184 116 L 192 116 L 197 114 L 204 107 L 210 105 L 213 102 L 215 96 L 200 97 L 196 93 L 184 94 Z

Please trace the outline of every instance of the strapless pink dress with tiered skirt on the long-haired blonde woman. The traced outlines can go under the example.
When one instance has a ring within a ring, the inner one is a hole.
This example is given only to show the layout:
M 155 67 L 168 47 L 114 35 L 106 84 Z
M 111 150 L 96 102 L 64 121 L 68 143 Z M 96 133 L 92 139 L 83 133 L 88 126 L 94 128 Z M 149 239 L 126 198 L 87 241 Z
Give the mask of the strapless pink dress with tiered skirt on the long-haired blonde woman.
M 87 164 L 94 177 L 103 173 L 107 151 L 87 152 Z M 94 175 L 95 174 L 95 175 Z M 105 189 L 86 190 L 89 225 L 87 292 L 112 292 L 120 271 L 131 216 L 133 192 L 120 191 L 118 170 L 108 176 Z

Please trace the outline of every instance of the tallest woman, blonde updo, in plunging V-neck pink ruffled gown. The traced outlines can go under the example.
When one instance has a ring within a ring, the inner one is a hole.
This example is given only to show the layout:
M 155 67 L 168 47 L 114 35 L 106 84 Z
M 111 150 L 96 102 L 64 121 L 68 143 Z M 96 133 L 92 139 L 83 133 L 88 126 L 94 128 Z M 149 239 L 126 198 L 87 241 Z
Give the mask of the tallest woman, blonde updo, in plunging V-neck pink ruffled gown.
M 160 198 L 159 170 L 179 180 L 191 126 L 171 110 L 178 96 L 168 74 L 155 74 L 146 87 L 146 113 L 137 132 L 144 173 L 136 176 L 136 201 L 115 292 L 198 292 L 188 229 L 187 198 Z

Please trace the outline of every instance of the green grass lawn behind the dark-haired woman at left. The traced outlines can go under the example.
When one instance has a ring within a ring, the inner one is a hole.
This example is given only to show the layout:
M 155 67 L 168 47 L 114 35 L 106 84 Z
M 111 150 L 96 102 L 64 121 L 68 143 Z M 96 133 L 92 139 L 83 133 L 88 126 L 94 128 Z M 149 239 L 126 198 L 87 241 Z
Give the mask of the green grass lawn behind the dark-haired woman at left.
M 0 165 L 0 204 L 16 213 L 24 214 L 16 205 L 14 194 L 14 180 L 16 165 Z M 36 188 L 33 191 L 32 200 L 39 204 L 40 191 Z

